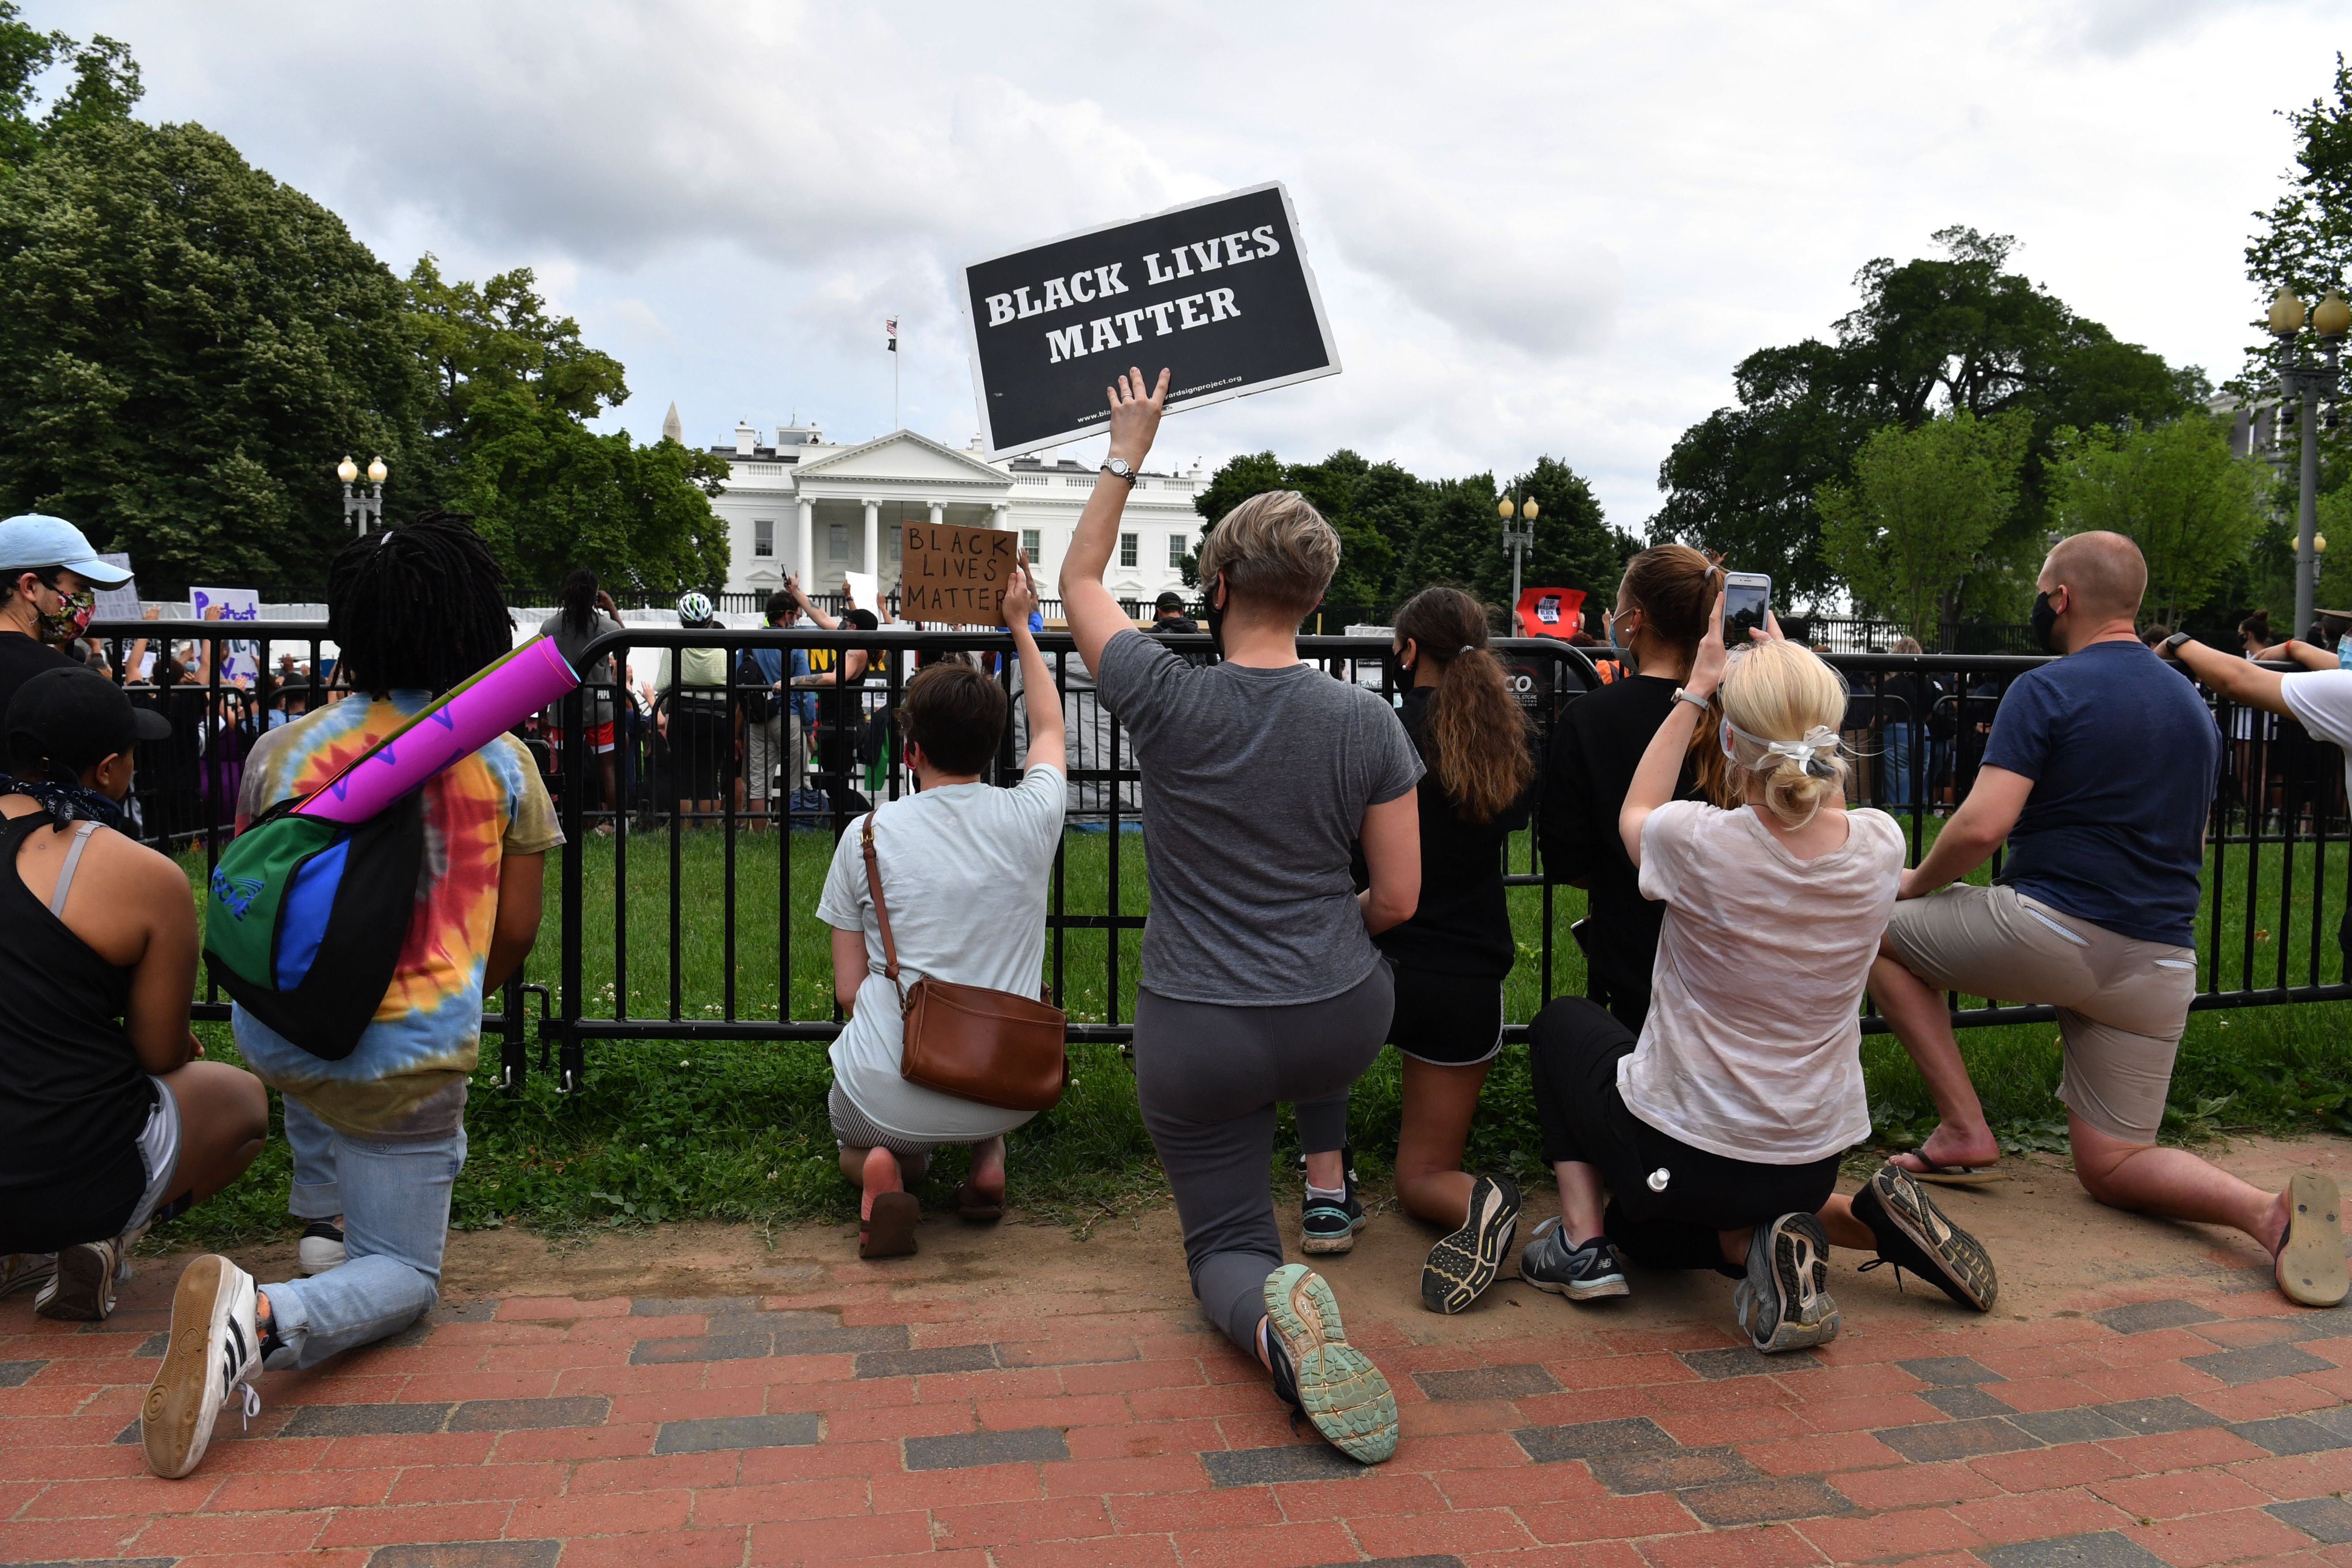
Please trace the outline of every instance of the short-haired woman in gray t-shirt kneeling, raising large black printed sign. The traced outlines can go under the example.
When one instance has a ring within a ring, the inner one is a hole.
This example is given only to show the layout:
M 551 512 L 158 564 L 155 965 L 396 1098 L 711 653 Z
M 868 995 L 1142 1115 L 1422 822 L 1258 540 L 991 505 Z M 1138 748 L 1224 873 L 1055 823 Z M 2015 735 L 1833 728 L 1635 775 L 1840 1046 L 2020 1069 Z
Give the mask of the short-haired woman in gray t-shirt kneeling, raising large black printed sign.
M 1063 557 L 1061 595 L 1143 764 L 1152 914 L 1136 992 L 1136 1093 L 1183 1222 L 1202 1312 L 1275 1378 L 1334 1446 L 1376 1465 L 1397 1401 L 1345 1340 L 1331 1286 L 1282 1262 L 1268 1164 L 1291 1103 L 1308 1159 L 1310 1251 L 1364 1222 L 1348 1180 L 1348 1088 L 1395 1004 L 1371 945 L 1421 898 L 1421 757 L 1374 691 L 1298 661 L 1298 621 L 1338 569 L 1338 534 L 1291 491 L 1251 496 L 1200 552 L 1209 637 L 1200 668 L 1145 637 L 1103 588 L 1134 465 L 1150 451 L 1167 371 L 1110 397 L 1110 463 Z M 1364 844 L 1359 896 L 1350 851 Z

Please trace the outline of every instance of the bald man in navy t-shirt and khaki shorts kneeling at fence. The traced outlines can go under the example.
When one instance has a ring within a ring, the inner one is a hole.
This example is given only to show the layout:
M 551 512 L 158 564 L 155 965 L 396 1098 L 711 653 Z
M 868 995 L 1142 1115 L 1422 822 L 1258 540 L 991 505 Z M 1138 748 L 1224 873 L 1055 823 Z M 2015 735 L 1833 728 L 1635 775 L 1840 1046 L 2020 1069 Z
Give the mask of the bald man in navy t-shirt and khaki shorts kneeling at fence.
M 2333 1180 L 2303 1171 L 2270 1194 L 2157 1147 L 2197 994 L 2213 715 L 2133 635 L 2147 562 L 2129 538 L 2065 538 L 2034 585 L 2034 630 L 2065 658 L 2009 686 L 1976 788 L 1903 875 L 1870 971 L 1943 1117 L 1919 1154 L 1898 1159 L 1933 1180 L 1999 1157 L 1938 992 L 2056 1004 L 2058 1098 L 2084 1190 L 2114 1208 L 2234 1225 L 2270 1253 L 2288 1300 L 2333 1307 L 2345 1298 Z M 2004 839 L 1994 886 L 1945 886 Z

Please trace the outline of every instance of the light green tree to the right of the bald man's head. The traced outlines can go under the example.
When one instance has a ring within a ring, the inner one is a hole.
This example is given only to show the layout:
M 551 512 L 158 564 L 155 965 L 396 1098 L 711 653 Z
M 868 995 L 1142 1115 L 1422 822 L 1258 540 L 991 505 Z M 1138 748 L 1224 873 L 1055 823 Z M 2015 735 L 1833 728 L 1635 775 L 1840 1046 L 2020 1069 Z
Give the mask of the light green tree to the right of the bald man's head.
M 2107 529 L 2138 543 L 2147 614 L 2166 625 L 2204 609 L 2265 520 L 2265 463 L 2230 456 L 2230 435 L 2204 414 L 2136 430 L 2060 430 L 2049 470 L 2058 531 Z

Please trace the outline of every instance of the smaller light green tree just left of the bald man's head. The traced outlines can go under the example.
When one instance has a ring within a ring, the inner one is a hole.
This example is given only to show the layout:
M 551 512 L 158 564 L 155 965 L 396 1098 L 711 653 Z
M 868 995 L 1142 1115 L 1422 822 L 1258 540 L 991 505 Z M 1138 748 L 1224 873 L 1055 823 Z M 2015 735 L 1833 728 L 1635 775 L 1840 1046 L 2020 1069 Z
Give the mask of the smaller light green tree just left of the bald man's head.
M 1997 564 L 2018 510 L 2030 416 L 1955 409 L 1884 425 L 1853 454 L 1853 480 L 1823 484 L 1823 552 L 1856 602 L 1929 646 L 1959 618 L 1969 578 Z

